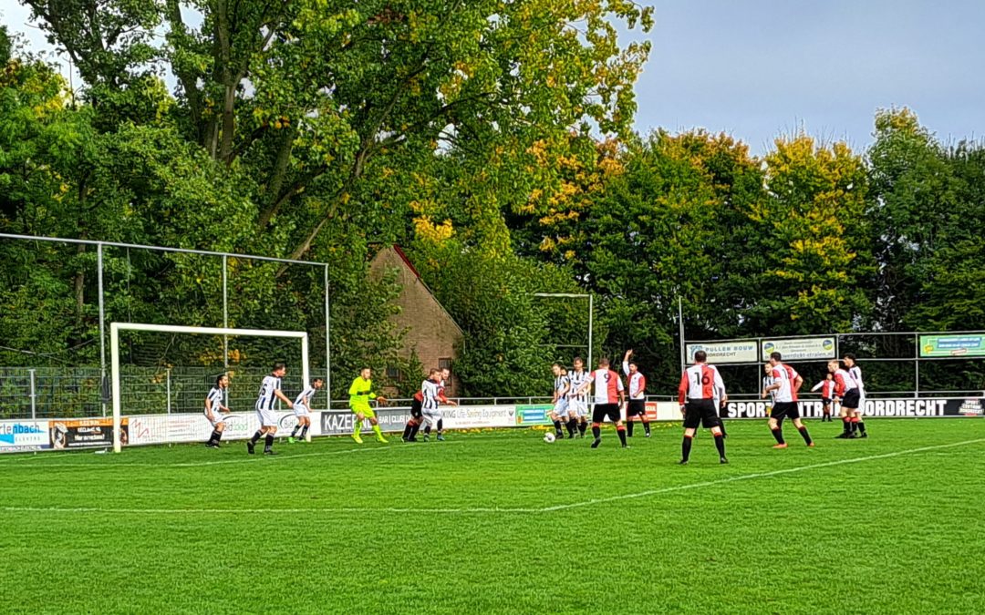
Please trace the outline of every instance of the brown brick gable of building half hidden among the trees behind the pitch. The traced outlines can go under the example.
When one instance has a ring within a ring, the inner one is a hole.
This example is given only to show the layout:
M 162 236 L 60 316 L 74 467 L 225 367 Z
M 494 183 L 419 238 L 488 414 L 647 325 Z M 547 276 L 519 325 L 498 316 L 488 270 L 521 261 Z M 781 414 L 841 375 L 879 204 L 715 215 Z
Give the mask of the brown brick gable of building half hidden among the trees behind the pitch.
M 399 314 L 391 317 L 391 320 L 398 329 L 407 332 L 401 353 L 410 356 L 411 352 L 417 352 L 418 359 L 425 369 L 451 367 L 451 362 L 457 358 L 458 348 L 462 345 L 464 338 L 462 329 L 434 298 L 421 279 L 421 275 L 414 269 L 399 246 L 383 248 L 369 264 L 372 275 L 382 275 L 383 272 L 394 269 L 397 271 L 397 282 L 402 288 L 397 298 L 401 309 Z M 390 373 L 389 376 L 397 379 L 417 379 L 420 375 Z M 460 390 L 461 387 L 452 371 L 446 395 L 456 397 Z

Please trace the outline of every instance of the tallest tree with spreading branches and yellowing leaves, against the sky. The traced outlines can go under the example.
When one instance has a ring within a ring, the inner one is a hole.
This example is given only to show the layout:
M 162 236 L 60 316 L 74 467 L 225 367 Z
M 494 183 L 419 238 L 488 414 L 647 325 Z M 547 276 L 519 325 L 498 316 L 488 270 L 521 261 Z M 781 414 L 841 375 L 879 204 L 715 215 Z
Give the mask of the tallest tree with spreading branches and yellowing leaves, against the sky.
M 94 100 L 110 97 L 97 84 L 123 95 L 166 67 L 170 115 L 252 187 L 258 234 L 290 229 L 292 258 L 330 220 L 378 207 L 360 200 L 374 158 L 523 153 L 583 122 L 623 130 L 649 47 L 622 49 L 613 22 L 651 26 L 627 0 L 25 1 Z M 148 57 L 156 29 L 165 44 Z

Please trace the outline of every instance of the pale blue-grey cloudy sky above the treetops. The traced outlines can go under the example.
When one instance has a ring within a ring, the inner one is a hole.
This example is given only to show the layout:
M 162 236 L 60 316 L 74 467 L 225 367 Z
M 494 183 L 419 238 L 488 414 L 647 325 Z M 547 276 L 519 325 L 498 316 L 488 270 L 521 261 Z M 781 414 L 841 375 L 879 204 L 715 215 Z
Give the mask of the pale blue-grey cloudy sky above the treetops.
M 856 148 L 907 105 L 944 140 L 985 136 L 985 0 L 653 0 L 636 129 L 725 131 L 762 154 L 800 127 Z M 29 12 L 3 23 L 46 48 Z

